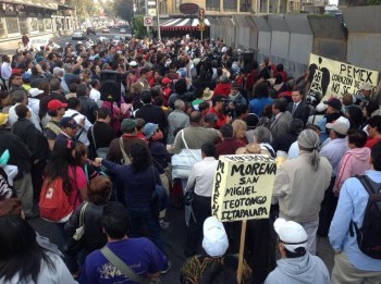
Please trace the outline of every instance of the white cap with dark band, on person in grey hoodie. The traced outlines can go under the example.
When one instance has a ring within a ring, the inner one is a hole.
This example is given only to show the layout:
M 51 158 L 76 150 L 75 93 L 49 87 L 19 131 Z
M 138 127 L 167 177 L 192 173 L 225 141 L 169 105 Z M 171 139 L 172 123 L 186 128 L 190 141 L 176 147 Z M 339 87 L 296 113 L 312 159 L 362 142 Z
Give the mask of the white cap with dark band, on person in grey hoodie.
M 274 230 L 280 242 L 288 251 L 296 252 L 295 249 L 298 247 L 307 248 L 308 236 L 300 224 L 278 218 L 274 222 Z

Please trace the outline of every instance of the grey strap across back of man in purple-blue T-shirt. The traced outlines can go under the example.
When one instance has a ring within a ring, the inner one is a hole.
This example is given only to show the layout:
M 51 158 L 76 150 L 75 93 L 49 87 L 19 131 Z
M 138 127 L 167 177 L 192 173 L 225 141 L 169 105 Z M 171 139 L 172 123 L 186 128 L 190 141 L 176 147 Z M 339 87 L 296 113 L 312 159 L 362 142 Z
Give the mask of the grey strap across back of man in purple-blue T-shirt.
M 124 275 L 128 276 L 132 281 L 139 284 L 152 284 L 161 283 L 160 279 L 149 279 L 138 275 L 126 263 L 123 262 L 114 252 L 107 246 L 100 249 L 100 252 L 111 262 L 112 266 L 118 268 Z

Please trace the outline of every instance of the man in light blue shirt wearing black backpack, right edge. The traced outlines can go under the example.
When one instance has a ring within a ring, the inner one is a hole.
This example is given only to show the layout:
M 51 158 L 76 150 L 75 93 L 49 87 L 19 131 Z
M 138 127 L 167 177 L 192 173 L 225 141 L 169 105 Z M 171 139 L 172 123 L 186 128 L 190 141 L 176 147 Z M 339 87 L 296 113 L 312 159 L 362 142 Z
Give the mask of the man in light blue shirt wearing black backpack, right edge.
M 366 171 L 365 176 L 379 185 L 381 143 L 372 147 L 370 157 L 371 170 Z M 335 251 L 331 276 L 333 284 L 381 282 L 381 260 L 367 256 L 359 249 L 359 232 L 355 230 L 355 226 L 361 227 L 365 224 L 368 199 L 369 194 L 357 177 L 349 177 L 344 182 L 329 231 L 330 243 Z M 374 230 L 379 227 L 374 225 Z

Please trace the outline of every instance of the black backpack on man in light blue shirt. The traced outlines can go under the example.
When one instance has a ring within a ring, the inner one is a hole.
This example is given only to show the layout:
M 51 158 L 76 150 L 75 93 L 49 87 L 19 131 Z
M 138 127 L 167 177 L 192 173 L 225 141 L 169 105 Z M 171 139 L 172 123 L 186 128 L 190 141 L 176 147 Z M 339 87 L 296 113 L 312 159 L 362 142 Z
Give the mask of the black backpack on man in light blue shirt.
M 356 176 L 369 194 L 364 214 L 362 226 L 359 229 L 354 221 L 349 224 L 349 235 L 353 237 L 355 227 L 358 248 L 367 256 L 381 259 L 381 185 L 366 175 Z

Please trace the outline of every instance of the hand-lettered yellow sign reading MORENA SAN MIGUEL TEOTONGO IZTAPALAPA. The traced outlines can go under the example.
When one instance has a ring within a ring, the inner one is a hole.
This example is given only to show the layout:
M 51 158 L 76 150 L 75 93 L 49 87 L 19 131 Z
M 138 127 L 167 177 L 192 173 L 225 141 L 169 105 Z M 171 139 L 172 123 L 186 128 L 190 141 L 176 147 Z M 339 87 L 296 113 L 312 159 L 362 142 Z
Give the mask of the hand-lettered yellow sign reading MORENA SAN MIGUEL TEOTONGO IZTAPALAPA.
M 269 218 L 275 171 L 275 161 L 268 156 L 221 156 L 214 174 L 211 214 L 220 221 Z

